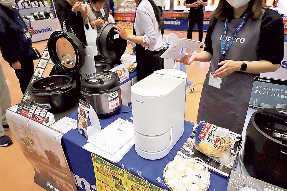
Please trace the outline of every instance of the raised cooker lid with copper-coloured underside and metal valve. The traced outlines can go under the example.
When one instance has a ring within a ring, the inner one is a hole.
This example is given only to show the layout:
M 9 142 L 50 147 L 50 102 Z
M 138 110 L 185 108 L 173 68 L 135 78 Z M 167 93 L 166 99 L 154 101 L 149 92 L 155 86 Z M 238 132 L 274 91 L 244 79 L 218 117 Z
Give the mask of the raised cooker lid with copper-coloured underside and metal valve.
M 55 31 L 48 43 L 51 60 L 64 73 L 76 74 L 85 63 L 85 46 L 73 34 Z

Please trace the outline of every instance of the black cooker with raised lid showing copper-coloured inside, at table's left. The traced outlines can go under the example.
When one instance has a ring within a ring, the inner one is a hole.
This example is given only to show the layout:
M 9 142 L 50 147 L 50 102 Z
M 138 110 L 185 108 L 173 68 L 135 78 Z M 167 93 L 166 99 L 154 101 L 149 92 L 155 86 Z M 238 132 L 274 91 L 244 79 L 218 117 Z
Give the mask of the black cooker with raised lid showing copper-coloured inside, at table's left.
M 80 68 L 85 62 L 85 46 L 71 33 L 55 31 L 48 41 L 57 75 L 36 79 L 28 88 L 32 100 L 49 112 L 64 112 L 80 98 Z

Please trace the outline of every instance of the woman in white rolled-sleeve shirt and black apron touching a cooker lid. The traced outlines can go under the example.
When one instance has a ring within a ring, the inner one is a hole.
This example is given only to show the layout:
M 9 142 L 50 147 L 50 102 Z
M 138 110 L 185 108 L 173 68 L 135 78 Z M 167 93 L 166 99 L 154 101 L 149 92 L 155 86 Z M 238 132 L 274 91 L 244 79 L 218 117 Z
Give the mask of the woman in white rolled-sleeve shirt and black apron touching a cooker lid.
M 163 69 L 162 34 L 164 23 L 160 10 L 152 0 L 140 0 L 137 3 L 133 35 L 129 35 L 121 24 L 114 27 L 123 39 L 136 43 L 137 80 L 140 81 L 154 71 Z

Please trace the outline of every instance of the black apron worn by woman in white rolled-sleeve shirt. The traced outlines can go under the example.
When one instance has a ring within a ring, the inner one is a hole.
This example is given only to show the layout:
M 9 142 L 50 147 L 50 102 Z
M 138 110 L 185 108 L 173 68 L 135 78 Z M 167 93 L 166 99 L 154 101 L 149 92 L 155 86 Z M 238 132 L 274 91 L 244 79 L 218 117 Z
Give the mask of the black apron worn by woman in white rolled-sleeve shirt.
M 135 20 L 136 14 L 137 11 L 135 11 Z M 135 24 L 133 24 L 133 35 L 137 36 L 135 32 Z M 151 51 L 145 49 L 141 44 L 136 44 L 135 55 L 137 60 L 137 81 L 148 77 L 154 73 L 154 71 L 164 68 L 164 59 L 160 58 L 160 55 L 162 55 L 162 49 Z

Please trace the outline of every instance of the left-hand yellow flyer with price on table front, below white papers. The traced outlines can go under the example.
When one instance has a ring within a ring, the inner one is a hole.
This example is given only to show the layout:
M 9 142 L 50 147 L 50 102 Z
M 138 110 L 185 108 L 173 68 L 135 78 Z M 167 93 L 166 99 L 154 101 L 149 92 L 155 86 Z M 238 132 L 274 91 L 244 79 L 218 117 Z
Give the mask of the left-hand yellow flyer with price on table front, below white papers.
M 126 191 L 126 174 L 102 158 L 92 154 L 97 189 L 99 191 Z

